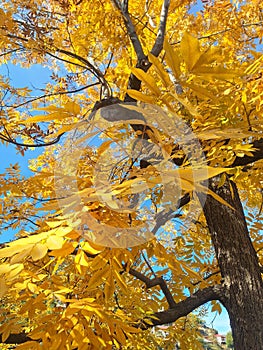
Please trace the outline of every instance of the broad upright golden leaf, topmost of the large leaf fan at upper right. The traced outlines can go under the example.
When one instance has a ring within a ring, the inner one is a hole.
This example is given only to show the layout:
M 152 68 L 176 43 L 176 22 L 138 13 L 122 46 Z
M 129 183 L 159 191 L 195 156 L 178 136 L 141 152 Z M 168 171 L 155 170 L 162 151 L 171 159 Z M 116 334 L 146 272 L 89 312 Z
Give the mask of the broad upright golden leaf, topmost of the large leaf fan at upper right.
M 186 67 L 191 71 L 201 56 L 199 40 L 185 32 L 181 40 L 180 50 Z

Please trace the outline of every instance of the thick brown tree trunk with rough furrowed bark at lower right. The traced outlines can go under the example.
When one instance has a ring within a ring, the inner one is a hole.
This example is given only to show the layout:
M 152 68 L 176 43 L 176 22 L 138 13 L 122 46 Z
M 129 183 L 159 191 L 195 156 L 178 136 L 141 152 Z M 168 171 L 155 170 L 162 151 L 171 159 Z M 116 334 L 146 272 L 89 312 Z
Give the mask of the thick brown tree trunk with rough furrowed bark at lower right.
M 226 307 L 236 350 L 263 349 L 263 281 L 255 249 L 235 183 L 227 180 L 217 188 L 217 179 L 209 187 L 235 210 L 207 196 L 204 213 L 226 293 Z

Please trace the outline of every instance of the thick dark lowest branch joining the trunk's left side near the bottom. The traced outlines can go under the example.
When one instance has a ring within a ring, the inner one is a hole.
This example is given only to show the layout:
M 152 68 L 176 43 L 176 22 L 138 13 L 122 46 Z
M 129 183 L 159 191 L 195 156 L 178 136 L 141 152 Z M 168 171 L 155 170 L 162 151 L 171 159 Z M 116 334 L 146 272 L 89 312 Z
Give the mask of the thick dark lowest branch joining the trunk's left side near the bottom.
M 145 319 L 137 327 L 145 330 L 153 326 L 175 322 L 208 301 L 220 300 L 223 293 L 224 288 L 221 285 L 204 288 L 176 303 L 174 307 L 154 313 L 153 317 L 148 318 L 150 324 Z

